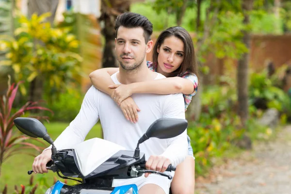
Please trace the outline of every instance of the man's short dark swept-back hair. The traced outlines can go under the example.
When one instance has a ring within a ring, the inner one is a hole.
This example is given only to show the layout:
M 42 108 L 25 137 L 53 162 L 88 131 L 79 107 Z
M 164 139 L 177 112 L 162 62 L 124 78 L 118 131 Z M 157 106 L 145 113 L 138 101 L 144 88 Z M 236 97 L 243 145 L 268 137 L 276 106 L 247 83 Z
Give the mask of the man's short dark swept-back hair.
M 145 16 L 132 12 L 125 12 L 117 16 L 114 27 L 115 38 L 117 37 L 117 31 L 120 26 L 125 28 L 141 27 L 144 30 L 146 43 L 150 40 L 150 36 L 153 33 L 153 24 Z

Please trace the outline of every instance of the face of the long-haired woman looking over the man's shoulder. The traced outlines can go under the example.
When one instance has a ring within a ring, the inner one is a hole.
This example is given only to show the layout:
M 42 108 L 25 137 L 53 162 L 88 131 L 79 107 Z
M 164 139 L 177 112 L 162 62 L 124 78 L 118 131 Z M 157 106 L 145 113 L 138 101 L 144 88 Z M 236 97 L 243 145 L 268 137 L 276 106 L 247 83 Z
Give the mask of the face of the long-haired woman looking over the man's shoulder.
M 166 76 L 177 70 L 184 60 L 184 43 L 175 36 L 164 39 L 160 48 L 157 49 L 158 67 L 157 72 Z

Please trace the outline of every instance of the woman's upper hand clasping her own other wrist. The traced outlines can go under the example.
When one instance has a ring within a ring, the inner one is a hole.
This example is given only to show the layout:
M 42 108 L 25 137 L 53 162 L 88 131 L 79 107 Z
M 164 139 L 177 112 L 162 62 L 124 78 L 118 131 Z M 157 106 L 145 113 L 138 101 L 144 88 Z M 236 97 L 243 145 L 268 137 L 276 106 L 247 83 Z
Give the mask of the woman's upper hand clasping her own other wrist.
M 127 97 L 130 97 L 132 95 L 132 90 L 130 88 L 130 85 L 114 84 L 114 85 L 110 85 L 109 88 L 115 88 L 111 97 L 113 98 L 113 100 L 116 102 L 116 104 L 118 106 L 120 106 L 120 103 L 124 99 L 126 99 Z

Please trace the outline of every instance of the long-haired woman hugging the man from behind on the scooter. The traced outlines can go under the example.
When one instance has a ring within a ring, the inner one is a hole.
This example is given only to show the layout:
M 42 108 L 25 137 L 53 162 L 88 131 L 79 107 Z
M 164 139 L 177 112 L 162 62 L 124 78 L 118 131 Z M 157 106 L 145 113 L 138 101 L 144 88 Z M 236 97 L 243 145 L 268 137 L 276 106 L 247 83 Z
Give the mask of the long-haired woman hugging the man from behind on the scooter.
M 182 27 L 171 27 L 163 31 L 153 49 L 153 63 L 147 62 L 147 66 L 167 78 L 116 85 L 110 75 L 118 71 L 118 68 L 103 68 L 92 72 L 90 79 L 97 89 L 111 95 L 125 117 L 133 123 L 138 121 L 137 112 L 141 111 L 130 97 L 134 93 L 183 93 L 186 111 L 198 86 L 195 75 L 197 65 L 190 34 Z M 194 193 L 195 161 L 189 136 L 188 144 L 188 157 L 177 166 L 171 183 L 173 194 Z

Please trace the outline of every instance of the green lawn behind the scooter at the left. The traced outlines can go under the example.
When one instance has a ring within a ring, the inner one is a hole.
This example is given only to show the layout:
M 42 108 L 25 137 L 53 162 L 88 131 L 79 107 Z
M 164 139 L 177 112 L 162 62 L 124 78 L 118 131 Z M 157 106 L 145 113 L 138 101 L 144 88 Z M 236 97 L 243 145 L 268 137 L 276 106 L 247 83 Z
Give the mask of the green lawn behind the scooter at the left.
M 61 122 L 52 122 L 52 123 L 45 124 L 46 128 L 48 129 L 48 133 L 53 140 L 55 140 L 68 125 L 69 123 L 61 123 Z M 100 124 L 98 123 L 88 133 L 86 139 L 91 139 L 94 137 L 101 137 L 101 135 L 102 135 L 101 127 L 100 127 Z M 47 145 L 49 146 L 49 144 Z M 32 169 L 33 159 L 34 158 L 32 156 L 28 156 L 25 154 L 18 154 L 18 155 L 12 156 L 11 158 L 9 158 L 7 161 L 3 163 L 1 177 L 0 177 L 0 193 L 3 191 L 5 184 L 8 185 L 9 194 L 12 194 L 14 192 L 14 185 L 17 185 L 19 188 L 20 184 L 23 184 L 23 185 L 29 184 L 29 180 L 31 176 L 27 174 L 27 171 Z M 52 185 L 54 177 L 58 177 L 58 176 L 56 173 L 52 173 L 52 172 L 49 172 L 48 174 L 44 174 L 44 175 L 34 175 L 34 184 L 35 183 L 39 184 L 39 181 L 41 181 L 41 179 L 42 180 L 47 179 L 48 185 Z M 61 178 L 59 179 L 62 180 Z M 36 191 L 38 190 L 39 189 L 37 189 Z

